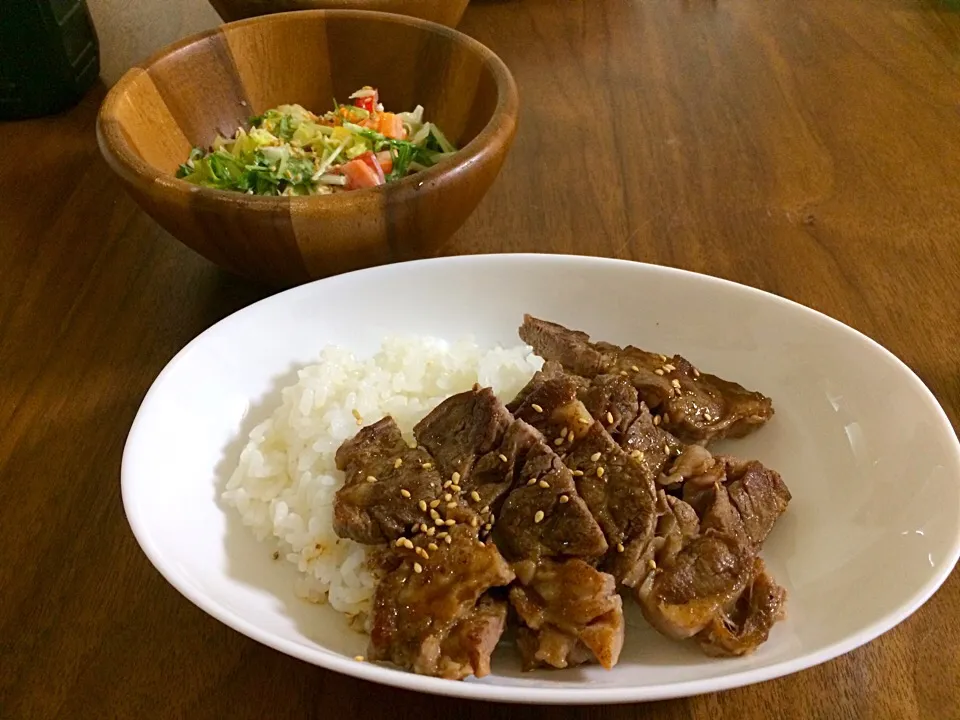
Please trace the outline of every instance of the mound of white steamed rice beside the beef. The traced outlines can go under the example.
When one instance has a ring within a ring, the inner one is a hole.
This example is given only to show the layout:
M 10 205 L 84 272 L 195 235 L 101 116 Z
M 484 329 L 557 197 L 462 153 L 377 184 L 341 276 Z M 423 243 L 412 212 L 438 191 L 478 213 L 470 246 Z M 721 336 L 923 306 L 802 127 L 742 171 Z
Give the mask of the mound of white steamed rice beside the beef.
M 337 448 L 385 415 L 410 438 L 418 420 L 474 383 L 512 398 L 541 362 L 525 345 L 484 350 L 472 340 L 388 338 L 369 359 L 328 347 L 250 433 L 223 499 L 297 567 L 301 597 L 362 617 L 374 577 L 366 546 L 333 531 L 334 495 L 344 479 L 334 463 Z

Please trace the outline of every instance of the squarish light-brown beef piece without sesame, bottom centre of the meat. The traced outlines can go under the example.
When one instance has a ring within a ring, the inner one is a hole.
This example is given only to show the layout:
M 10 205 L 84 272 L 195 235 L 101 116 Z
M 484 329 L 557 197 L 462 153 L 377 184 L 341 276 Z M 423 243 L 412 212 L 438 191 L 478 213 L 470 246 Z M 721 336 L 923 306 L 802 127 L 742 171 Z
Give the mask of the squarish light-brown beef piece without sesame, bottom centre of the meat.
M 613 577 L 579 559 L 515 565 L 510 603 L 520 619 L 524 670 L 596 661 L 613 667 L 623 647 L 623 603 Z

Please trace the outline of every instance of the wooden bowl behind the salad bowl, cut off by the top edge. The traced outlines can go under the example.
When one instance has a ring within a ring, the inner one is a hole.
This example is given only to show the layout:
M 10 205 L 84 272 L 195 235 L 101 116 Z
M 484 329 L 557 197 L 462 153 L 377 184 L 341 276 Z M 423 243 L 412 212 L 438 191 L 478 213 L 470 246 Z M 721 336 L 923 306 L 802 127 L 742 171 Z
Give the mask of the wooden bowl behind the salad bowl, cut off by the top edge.
M 290 10 L 376 10 L 456 27 L 470 0 L 210 0 L 226 22 Z

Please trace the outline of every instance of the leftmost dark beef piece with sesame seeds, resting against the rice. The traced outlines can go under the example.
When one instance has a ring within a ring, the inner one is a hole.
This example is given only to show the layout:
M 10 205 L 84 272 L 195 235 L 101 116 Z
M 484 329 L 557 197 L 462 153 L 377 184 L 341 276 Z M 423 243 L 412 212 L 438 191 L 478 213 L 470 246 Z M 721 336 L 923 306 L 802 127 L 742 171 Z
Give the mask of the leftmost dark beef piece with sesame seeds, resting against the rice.
M 440 475 L 433 458 L 407 445 L 393 418 L 345 441 L 336 461 L 347 476 L 333 506 L 333 528 L 340 537 L 380 543 L 430 521 L 419 503 L 438 497 Z

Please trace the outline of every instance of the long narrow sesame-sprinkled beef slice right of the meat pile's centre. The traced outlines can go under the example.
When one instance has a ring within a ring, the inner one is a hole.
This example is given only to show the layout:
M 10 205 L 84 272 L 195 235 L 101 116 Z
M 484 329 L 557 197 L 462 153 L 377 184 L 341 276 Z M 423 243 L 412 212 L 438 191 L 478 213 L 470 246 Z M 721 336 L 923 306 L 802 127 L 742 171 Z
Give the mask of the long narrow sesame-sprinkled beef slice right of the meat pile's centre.
M 564 462 L 577 475 L 580 496 L 607 538 L 605 567 L 619 582 L 638 577 L 657 522 L 652 479 L 600 423 L 574 442 Z

